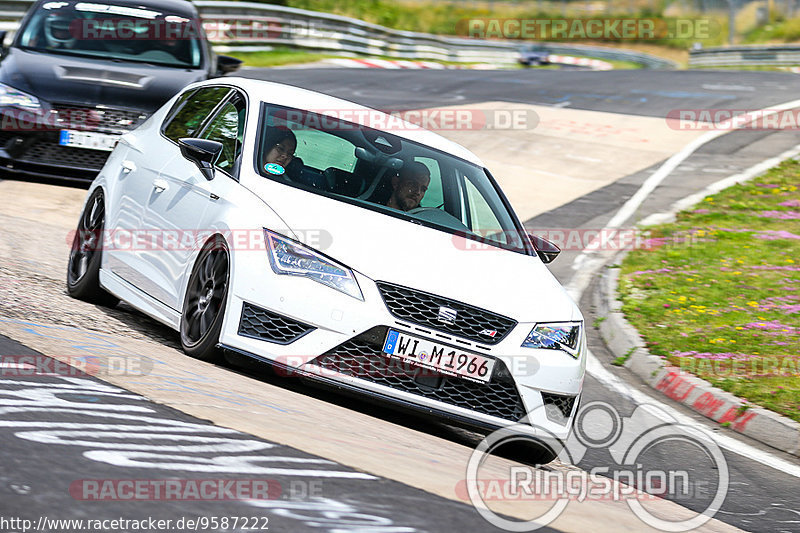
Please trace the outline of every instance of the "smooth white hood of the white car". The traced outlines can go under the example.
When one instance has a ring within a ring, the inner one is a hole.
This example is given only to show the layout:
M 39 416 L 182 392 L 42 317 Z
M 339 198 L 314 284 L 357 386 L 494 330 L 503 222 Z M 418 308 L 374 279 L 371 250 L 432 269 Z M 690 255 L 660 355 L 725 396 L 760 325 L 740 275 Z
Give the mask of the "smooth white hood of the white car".
M 271 183 L 262 198 L 269 199 L 295 238 L 375 281 L 470 303 L 519 322 L 581 318 L 538 257 Z

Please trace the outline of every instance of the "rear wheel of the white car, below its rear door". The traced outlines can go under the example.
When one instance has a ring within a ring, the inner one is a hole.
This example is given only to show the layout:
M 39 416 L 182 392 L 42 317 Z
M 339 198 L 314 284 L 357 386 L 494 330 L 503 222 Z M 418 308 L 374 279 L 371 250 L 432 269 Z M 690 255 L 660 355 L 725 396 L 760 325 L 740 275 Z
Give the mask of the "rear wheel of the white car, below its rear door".
M 81 213 L 67 262 L 67 294 L 87 302 L 114 307 L 119 298 L 100 287 L 100 262 L 103 255 L 105 199 L 95 189 Z

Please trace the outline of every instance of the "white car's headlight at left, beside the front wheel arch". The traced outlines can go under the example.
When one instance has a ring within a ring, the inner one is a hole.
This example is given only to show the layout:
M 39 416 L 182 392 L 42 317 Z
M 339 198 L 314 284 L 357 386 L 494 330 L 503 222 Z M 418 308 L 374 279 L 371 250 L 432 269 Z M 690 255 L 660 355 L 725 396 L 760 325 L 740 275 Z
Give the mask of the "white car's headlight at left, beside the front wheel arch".
M 304 276 L 364 301 L 353 271 L 307 246 L 264 229 L 269 263 L 276 274 Z

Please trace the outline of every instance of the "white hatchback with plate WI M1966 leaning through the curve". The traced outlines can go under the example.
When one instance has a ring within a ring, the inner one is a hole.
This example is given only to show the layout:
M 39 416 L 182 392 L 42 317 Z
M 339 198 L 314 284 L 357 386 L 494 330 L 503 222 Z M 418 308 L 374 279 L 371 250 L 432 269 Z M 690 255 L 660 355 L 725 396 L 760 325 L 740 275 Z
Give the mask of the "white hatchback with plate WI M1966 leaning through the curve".
M 563 441 L 586 336 L 548 244 L 465 148 L 351 102 L 224 78 L 122 136 L 89 189 L 67 289 L 124 300 L 200 359 L 244 355 Z

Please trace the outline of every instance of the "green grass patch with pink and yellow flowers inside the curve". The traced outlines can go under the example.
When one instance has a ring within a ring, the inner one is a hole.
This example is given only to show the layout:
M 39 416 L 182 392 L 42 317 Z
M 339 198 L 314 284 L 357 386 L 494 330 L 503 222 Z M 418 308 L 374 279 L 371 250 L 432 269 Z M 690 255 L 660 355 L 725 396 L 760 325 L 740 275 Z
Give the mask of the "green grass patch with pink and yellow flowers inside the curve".
M 800 421 L 800 163 L 710 196 L 652 229 L 620 273 L 652 353 Z

